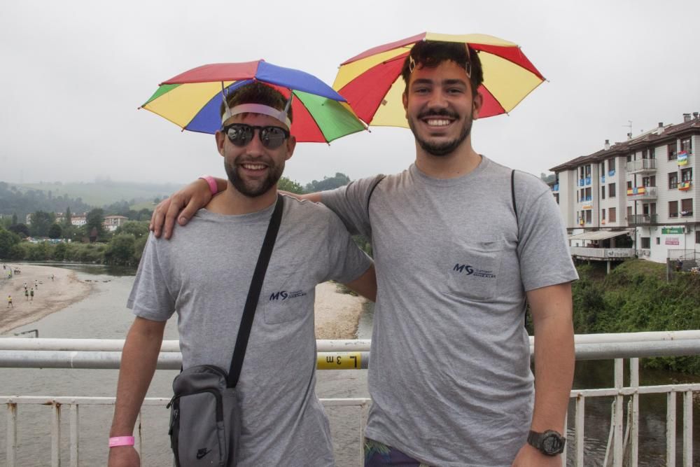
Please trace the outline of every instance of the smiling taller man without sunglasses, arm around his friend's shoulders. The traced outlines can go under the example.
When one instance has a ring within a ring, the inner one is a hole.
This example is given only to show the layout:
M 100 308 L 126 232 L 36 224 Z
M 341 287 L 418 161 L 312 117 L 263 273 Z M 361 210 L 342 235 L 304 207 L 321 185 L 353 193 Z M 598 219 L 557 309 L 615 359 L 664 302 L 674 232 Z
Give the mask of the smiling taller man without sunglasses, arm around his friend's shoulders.
M 475 50 L 416 43 L 402 76 L 415 163 L 304 195 L 372 239 L 379 293 L 365 465 L 561 466 L 577 274 L 559 210 L 535 176 L 472 148 L 484 102 Z M 209 197 L 197 181 L 162 202 L 155 235 L 165 220 L 169 237 Z

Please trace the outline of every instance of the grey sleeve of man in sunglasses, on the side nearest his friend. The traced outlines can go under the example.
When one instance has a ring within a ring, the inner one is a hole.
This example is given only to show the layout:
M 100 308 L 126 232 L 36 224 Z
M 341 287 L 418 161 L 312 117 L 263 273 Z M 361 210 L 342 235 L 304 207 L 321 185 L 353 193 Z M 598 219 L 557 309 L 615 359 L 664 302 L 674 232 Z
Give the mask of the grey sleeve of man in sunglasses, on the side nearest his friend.
M 359 249 L 340 219 L 328 214 L 328 276 L 325 280 L 347 284 L 364 274 L 372 265 L 372 259 Z

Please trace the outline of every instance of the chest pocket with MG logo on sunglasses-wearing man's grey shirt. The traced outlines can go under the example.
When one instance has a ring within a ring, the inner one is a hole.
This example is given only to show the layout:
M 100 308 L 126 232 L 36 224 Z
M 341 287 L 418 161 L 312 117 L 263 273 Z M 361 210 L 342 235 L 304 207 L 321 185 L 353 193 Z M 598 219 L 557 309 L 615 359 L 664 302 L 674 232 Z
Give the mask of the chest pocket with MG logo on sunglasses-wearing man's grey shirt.
M 265 280 L 260 294 L 265 323 L 297 321 L 314 313 L 314 280 L 304 265 L 304 261 L 281 265 L 269 276 L 269 281 Z

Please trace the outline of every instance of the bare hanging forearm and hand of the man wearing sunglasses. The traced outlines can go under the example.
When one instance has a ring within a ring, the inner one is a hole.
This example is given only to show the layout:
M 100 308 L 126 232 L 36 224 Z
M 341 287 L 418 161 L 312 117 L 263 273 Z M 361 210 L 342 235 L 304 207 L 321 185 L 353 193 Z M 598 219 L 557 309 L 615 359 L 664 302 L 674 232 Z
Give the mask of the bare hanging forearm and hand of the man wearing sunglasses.
M 110 437 L 131 436 L 134 433 L 141 403 L 144 402 L 158 363 L 165 323 L 166 321 L 151 321 L 139 316 L 134 319 L 122 350 Z M 139 454 L 133 446 L 109 449 L 109 467 L 139 465 Z

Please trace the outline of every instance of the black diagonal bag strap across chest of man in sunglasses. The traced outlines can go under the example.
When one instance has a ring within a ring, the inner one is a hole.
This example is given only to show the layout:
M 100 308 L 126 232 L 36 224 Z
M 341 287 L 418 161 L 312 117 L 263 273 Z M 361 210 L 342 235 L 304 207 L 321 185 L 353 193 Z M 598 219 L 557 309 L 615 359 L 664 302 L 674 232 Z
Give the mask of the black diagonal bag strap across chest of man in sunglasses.
M 236 346 L 233 349 L 233 357 L 231 358 L 231 368 L 228 372 L 228 387 L 236 387 L 238 378 L 241 375 L 243 368 L 243 359 L 246 356 L 246 347 L 248 347 L 248 337 L 251 335 L 253 327 L 253 317 L 255 317 L 255 308 L 258 307 L 258 298 L 262 290 L 262 281 L 265 279 L 269 258 L 272 256 L 274 241 L 277 238 L 279 224 L 282 220 L 282 209 L 284 207 L 284 197 L 277 193 L 277 202 L 272 211 L 272 217 L 267 225 L 267 233 L 262 241 L 262 249 L 258 256 L 258 263 L 255 265 L 253 279 L 251 280 L 251 288 L 248 289 L 248 298 L 246 299 L 246 307 L 243 309 L 243 317 L 241 318 L 241 326 L 238 329 L 238 337 L 236 338 Z

